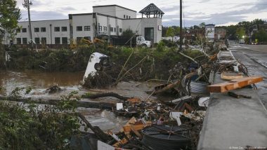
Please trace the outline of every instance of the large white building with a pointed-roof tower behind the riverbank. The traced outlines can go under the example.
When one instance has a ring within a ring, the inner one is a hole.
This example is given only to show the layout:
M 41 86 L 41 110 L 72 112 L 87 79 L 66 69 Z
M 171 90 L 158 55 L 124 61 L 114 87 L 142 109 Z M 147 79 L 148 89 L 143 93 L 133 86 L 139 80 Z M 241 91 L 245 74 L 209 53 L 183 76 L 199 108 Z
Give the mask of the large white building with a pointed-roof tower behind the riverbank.
M 157 43 L 162 39 L 162 11 L 150 4 L 136 18 L 136 11 L 117 5 L 93 6 L 93 13 L 69 14 L 67 20 L 32 21 L 32 39 L 35 43 L 70 44 L 79 39 L 98 36 L 121 36 L 126 29 Z M 143 18 L 143 15 L 146 18 Z M 30 41 L 29 23 L 19 22 L 14 43 Z M 8 44 L 8 43 L 6 43 Z

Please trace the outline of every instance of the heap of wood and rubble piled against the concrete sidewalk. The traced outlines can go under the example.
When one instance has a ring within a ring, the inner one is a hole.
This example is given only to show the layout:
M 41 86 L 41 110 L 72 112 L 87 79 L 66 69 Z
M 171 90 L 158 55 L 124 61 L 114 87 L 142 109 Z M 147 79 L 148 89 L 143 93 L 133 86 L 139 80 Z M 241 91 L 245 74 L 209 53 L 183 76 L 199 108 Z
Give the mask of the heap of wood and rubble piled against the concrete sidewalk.
M 202 50 L 206 60 L 195 60 L 180 52 L 193 64 L 187 69 L 177 63 L 169 70 L 169 80 L 149 92 L 150 96 L 171 93 L 178 97 L 174 100 L 150 101 L 150 97 L 141 100 L 110 95 L 122 100 L 112 112 L 130 119 L 120 132 L 108 131 L 110 139 L 100 144 L 110 149 L 196 149 L 209 105 L 209 92 L 226 92 L 262 81 L 261 76 L 245 77 L 247 68 L 233 59 L 233 55 L 225 55 L 226 46 L 218 47 L 221 51 L 209 55 Z M 221 72 L 221 79 L 230 81 L 209 86 L 216 72 Z M 249 98 L 233 92 L 228 95 Z

